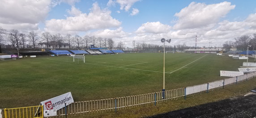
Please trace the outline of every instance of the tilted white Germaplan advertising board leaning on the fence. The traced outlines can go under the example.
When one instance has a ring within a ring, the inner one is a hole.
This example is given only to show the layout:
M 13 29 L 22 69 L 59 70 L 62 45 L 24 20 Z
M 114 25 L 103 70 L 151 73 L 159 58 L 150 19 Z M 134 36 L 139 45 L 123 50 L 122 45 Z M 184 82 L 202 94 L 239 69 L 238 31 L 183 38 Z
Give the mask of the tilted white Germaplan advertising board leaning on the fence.
M 65 103 L 66 105 L 69 105 L 72 102 L 74 102 L 72 94 L 71 92 L 68 92 L 46 101 L 41 101 L 40 105 L 43 105 L 44 110 L 60 110 L 61 108 L 65 107 Z

